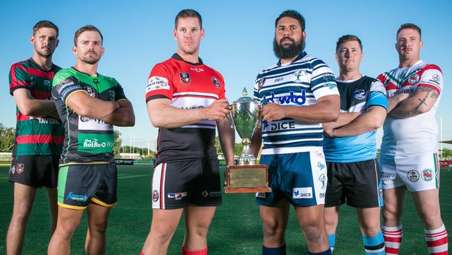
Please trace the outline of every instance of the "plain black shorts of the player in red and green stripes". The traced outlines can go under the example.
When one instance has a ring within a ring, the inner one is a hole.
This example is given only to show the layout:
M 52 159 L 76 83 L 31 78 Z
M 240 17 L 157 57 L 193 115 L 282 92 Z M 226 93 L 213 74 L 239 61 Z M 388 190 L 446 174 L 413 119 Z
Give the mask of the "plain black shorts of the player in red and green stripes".
M 56 187 L 59 155 L 24 155 L 13 158 L 8 180 L 32 187 Z

